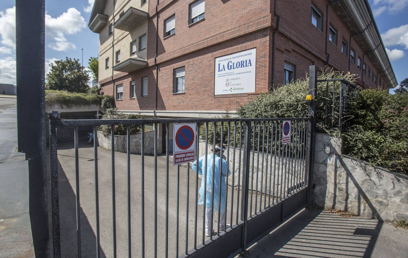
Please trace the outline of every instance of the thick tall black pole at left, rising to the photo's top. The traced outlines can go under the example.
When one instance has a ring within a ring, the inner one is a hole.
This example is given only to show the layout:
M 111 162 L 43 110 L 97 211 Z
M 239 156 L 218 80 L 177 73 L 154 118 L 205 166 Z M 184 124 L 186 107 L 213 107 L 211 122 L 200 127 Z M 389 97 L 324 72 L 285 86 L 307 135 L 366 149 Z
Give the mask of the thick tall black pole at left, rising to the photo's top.
M 36 257 L 49 256 L 44 9 L 44 0 L 16 1 L 18 151 L 25 152 L 29 165 L 29 209 Z

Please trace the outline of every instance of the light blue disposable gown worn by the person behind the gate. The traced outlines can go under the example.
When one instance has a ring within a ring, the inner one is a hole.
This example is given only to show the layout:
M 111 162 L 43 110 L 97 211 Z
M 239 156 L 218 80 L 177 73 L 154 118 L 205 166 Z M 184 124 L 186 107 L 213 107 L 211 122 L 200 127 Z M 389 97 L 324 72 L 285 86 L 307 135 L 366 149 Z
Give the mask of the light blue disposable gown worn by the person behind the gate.
M 206 181 L 206 207 L 211 207 L 211 196 L 212 196 L 212 187 L 213 187 L 213 154 L 207 155 L 207 169 L 205 168 L 205 158 L 206 156 L 202 156 L 198 159 L 198 174 L 203 175 L 201 180 L 201 187 L 199 190 L 200 199 L 198 200 L 198 204 L 204 203 L 204 184 Z M 228 170 L 227 174 L 227 162 L 225 159 L 222 159 L 222 175 L 221 175 L 221 191 L 220 191 L 220 157 L 215 155 L 215 173 L 214 173 L 214 210 L 218 211 L 219 207 L 221 206 L 221 213 L 225 212 L 225 195 L 226 195 L 226 177 L 231 174 L 231 171 Z M 197 161 L 194 161 L 191 164 L 191 168 L 194 172 L 197 172 Z M 204 175 L 206 175 L 206 179 L 204 179 Z M 221 193 L 221 205 L 219 205 L 218 200 L 220 198 Z

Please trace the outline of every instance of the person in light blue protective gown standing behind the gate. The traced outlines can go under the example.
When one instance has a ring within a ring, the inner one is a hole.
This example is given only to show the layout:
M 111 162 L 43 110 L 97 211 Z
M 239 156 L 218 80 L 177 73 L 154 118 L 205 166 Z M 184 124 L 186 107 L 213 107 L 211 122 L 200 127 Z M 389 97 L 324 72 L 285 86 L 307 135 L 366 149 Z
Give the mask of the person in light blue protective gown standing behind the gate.
M 217 143 L 214 148 L 211 149 L 213 153 L 203 155 L 198 159 L 198 174 L 202 175 L 201 187 L 199 190 L 200 199 L 198 204 L 204 204 L 205 198 L 205 232 L 206 236 L 210 236 L 212 232 L 211 221 L 213 212 L 220 213 L 220 231 L 225 229 L 225 196 L 226 196 L 226 178 L 231 174 L 231 171 L 227 172 L 227 162 L 223 155 L 225 150 L 224 144 Z M 215 159 L 214 173 L 213 173 L 213 159 Z M 207 166 L 205 167 L 205 162 Z M 222 165 L 221 165 L 222 163 Z M 197 161 L 191 164 L 191 168 L 194 172 L 197 172 Z M 221 171 L 222 169 L 222 171 Z M 221 183 L 220 183 L 221 177 Z M 214 191 L 213 191 L 214 181 Z M 204 189 L 206 192 L 204 193 Z M 214 198 L 212 198 L 214 194 Z M 220 198 L 221 196 L 221 198 Z M 211 199 L 213 199 L 213 211 L 211 210 Z M 220 202 L 220 203 L 219 203 Z

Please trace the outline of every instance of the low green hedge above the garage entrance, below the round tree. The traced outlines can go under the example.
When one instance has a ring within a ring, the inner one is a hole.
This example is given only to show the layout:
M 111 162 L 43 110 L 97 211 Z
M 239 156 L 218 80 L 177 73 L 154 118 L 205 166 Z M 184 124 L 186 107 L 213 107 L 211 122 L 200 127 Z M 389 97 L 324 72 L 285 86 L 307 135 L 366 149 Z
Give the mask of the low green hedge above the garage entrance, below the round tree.
M 111 95 L 97 95 L 90 93 L 74 93 L 66 90 L 45 90 L 45 103 L 56 103 L 60 106 L 64 105 L 69 108 L 72 106 L 88 106 L 92 104 L 100 105 L 102 102 L 113 103 Z

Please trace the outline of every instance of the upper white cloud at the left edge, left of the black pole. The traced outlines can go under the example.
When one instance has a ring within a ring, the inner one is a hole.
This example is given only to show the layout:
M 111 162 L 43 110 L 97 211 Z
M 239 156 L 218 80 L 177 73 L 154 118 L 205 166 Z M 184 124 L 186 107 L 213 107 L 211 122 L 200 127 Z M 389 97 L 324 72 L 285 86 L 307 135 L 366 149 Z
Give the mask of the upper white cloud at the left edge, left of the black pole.
M 0 11 L 0 28 L 1 43 L 16 49 L 16 7 Z

